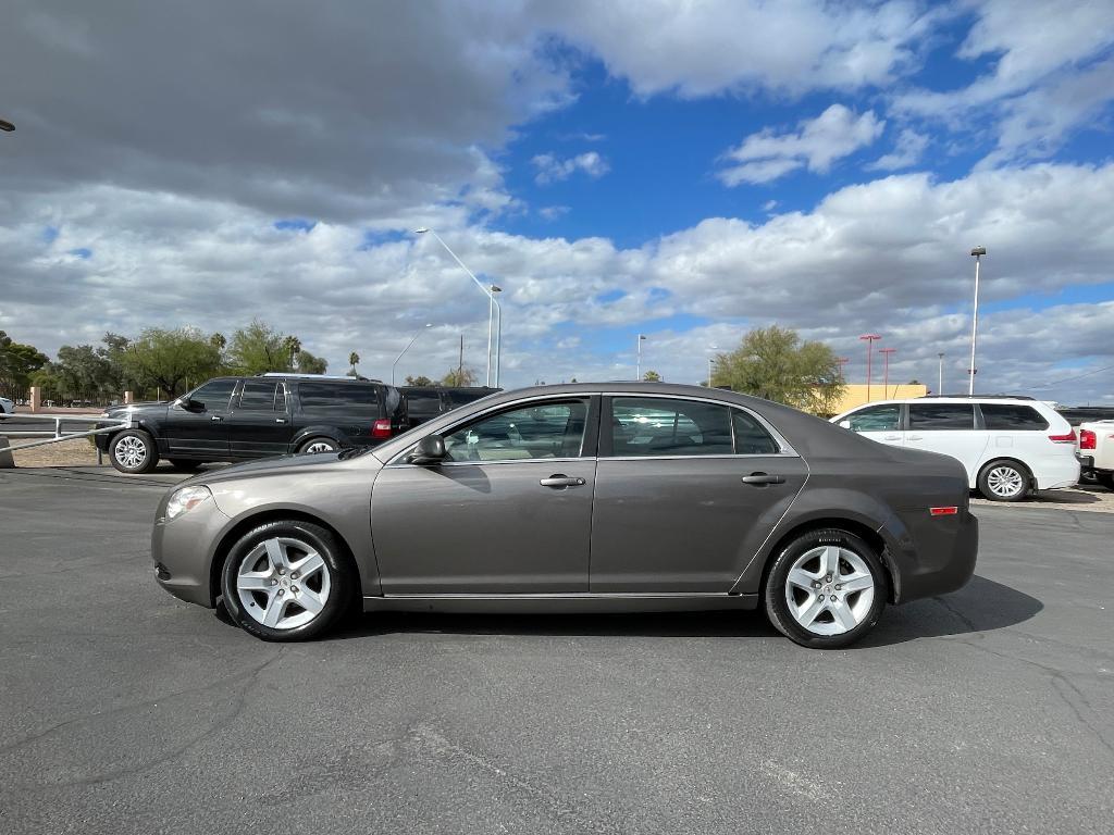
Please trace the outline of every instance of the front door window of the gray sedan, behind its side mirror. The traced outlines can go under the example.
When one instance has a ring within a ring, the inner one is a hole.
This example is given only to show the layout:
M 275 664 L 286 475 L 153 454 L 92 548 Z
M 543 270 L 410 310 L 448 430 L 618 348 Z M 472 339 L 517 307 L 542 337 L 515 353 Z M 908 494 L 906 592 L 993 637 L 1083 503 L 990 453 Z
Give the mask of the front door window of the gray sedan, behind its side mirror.
M 588 402 L 546 403 L 482 418 L 444 436 L 449 461 L 576 458 Z

